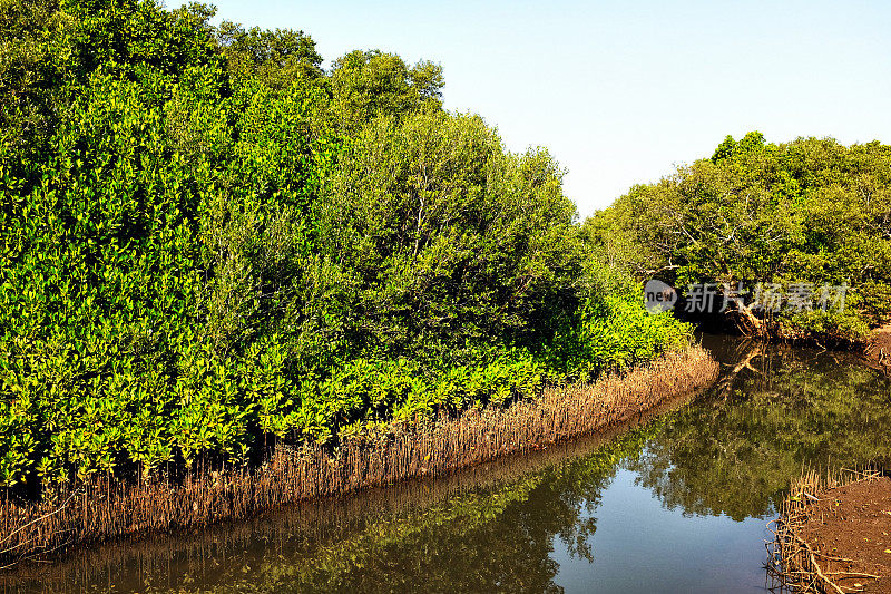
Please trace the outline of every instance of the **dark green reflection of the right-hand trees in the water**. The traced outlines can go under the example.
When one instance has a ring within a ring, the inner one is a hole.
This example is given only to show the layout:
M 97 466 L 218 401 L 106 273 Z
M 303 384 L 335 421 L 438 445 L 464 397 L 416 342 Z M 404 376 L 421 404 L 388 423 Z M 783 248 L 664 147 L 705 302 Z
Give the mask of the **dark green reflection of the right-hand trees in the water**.
M 713 392 L 670 415 L 626 467 L 670 509 L 773 515 L 805 465 L 864 465 L 891 451 L 887 379 L 850 356 L 724 340 Z

